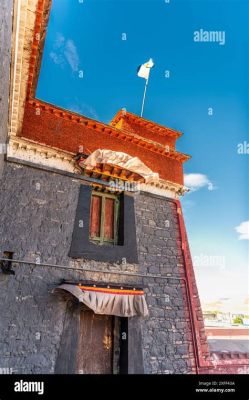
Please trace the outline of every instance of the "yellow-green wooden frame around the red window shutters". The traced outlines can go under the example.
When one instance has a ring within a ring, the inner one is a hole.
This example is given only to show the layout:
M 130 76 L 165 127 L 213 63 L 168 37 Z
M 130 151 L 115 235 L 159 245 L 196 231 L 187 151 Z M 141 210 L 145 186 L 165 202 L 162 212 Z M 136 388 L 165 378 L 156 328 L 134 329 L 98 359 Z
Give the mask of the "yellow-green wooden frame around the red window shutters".
M 91 208 L 92 208 L 92 199 L 94 196 L 101 197 L 101 211 L 100 211 L 100 236 L 91 237 L 89 231 L 89 240 L 95 244 L 118 244 L 118 224 L 119 224 L 119 210 L 120 210 L 120 199 L 118 195 L 111 194 L 111 193 L 102 193 L 97 191 L 92 191 L 91 195 Z M 105 200 L 106 199 L 113 199 L 114 200 L 114 218 L 113 218 L 113 239 L 106 239 L 104 237 L 104 228 L 105 228 Z M 90 214 L 91 215 L 91 214 Z

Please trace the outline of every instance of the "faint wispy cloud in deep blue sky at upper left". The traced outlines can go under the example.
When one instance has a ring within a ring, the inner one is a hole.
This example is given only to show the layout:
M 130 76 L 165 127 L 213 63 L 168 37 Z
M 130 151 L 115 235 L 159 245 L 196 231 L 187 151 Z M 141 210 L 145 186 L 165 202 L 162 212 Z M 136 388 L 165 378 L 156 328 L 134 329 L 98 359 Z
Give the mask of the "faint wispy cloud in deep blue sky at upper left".
M 64 68 L 65 65 L 69 65 L 73 72 L 77 72 L 79 69 L 80 59 L 73 40 L 66 39 L 60 33 L 56 35 L 53 49 L 49 53 L 49 57 L 61 68 Z

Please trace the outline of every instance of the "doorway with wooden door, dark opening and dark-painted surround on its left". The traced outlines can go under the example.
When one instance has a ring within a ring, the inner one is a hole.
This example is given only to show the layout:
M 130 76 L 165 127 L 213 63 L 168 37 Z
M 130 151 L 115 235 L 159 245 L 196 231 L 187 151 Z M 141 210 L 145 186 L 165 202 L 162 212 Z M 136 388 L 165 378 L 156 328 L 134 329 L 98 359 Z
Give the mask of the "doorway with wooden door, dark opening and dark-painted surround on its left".
M 55 373 L 127 374 L 128 318 L 69 301 Z

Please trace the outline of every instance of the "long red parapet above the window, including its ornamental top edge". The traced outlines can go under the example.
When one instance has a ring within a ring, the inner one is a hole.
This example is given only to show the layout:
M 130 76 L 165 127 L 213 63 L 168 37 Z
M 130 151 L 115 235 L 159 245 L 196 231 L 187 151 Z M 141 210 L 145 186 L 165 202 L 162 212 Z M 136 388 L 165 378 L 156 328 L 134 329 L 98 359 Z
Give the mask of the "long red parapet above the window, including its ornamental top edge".
M 158 172 L 161 179 L 180 185 L 183 185 L 183 162 L 189 158 L 174 148 L 168 151 L 155 140 L 123 132 L 37 99 L 26 103 L 21 136 L 75 154 L 84 147 L 90 152 L 103 148 L 121 151 L 138 157 L 153 172 Z

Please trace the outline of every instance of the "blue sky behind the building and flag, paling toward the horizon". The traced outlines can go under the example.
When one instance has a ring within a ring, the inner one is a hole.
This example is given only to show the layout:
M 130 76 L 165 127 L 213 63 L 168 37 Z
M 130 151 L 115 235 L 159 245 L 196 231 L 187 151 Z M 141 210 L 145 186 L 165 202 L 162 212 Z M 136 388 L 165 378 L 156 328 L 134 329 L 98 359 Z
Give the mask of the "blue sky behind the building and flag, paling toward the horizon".
M 184 132 L 192 156 L 182 204 L 202 301 L 248 293 L 248 15 L 247 0 L 53 0 L 36 93 L 103 122 L 139 114 L 136 69 L 153 58 L 144 117 Z M 225 43 L 194 41 L 201 29 Z

